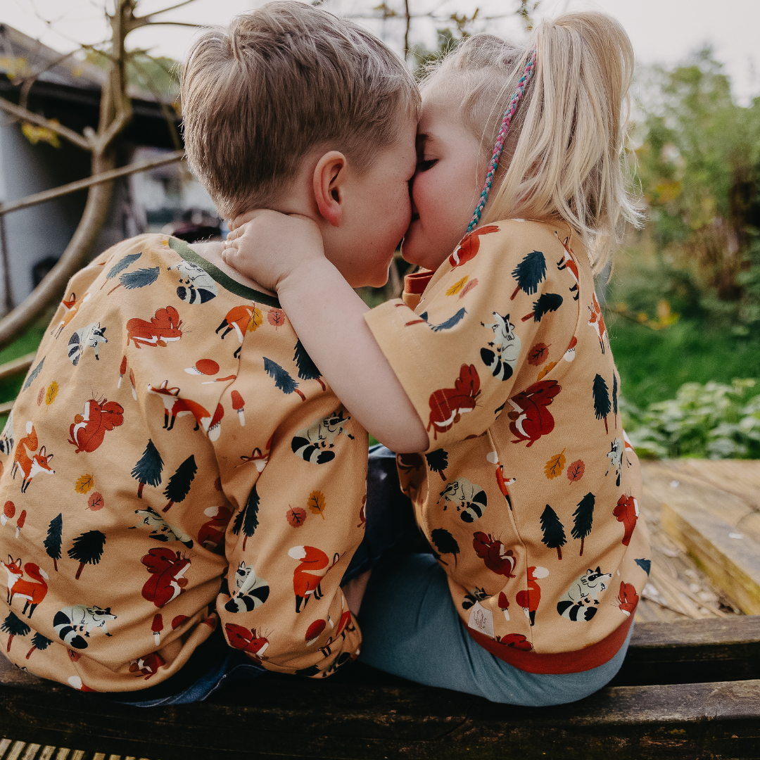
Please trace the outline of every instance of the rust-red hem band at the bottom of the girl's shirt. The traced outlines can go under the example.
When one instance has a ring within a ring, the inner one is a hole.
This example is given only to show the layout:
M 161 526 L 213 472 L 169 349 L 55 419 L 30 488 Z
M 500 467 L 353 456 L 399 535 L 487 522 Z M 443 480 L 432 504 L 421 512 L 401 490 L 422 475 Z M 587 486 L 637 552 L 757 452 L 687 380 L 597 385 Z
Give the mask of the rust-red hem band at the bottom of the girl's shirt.
M 591 644 L 574 652 L 552 652 L 549 654 L 536 654 L 533 651 L 526 652 L 505 646 L 483 635 L 480 631 L 465 627 L 467 633 L 483 649 L 489 651 L 494 657 L 499 657 L 499 660 L 504 660 L 512 667 L 524 670 L 526 673 L 561 675 L 562 673 L 582 673 L 584 670 L 591 670 L 612 660 L 625 643 L 625 637 L 628 635 L 628 630 L 633 622 L 633 616 L 634 613 L 632 612 L 619 628 L 601 641 L 597 641 L 596 644 Z

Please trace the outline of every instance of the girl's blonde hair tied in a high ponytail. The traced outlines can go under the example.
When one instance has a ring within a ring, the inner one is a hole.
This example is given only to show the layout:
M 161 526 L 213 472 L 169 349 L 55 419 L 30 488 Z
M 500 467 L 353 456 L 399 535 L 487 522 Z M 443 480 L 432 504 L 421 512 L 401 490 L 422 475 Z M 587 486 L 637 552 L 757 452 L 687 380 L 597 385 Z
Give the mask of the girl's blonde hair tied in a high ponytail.
M 567 14 L 539 24 L 526 46 L 477 34 L 433 65 L 423 88 L 459 99 L 487 161 L 534 47 L 536 70 L 507 132 L 483 221 L 562 217 L 598 273 L 625 222 L 641 219 L 625 167 L 634 57 L 620 24 L 603 13 Z

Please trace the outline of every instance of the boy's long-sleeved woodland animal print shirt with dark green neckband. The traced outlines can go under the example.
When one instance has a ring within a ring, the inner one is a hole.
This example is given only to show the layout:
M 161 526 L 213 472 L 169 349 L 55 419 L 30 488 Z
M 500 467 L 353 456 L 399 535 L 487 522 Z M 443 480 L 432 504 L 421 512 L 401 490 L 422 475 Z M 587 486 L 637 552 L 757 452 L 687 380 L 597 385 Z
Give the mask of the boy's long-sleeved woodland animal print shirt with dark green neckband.
M 75 689 L 144 689 L 222 625 L 265 668 L 355 657 L 340 578 L 367 435 L 273 296 L 186 243 L 74 275 L 0 435 L 2 651 Z

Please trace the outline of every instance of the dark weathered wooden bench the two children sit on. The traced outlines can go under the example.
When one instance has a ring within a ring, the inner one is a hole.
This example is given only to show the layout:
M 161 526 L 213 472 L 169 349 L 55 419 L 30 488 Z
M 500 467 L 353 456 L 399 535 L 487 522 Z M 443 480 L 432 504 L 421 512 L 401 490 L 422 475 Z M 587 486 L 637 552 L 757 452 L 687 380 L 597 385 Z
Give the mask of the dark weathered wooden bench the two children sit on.
M 134 708 L 0 660 L 0 760 L 760 758 L 760 616 L 639 624 L 612 685 L 554 708 L 359 663 L 325 681 L 268 674 L 204 703 Z

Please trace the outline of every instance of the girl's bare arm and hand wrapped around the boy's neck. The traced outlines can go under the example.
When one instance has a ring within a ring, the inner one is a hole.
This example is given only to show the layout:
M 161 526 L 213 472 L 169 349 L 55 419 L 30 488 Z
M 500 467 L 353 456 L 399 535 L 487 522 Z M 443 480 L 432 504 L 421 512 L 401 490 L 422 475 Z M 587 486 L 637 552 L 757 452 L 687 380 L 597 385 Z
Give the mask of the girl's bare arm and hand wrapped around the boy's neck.
M 318 226 L 275 211 L 250 217 L 230 234 L 226 263 L 277 291 L 309 356 L 375 439 L 399 453 L 425 451 L 425 426 L 364 321 L 369 307 L 325 258 Z M 283 238 L 274 255 L 261 255 L 259 240 Z

